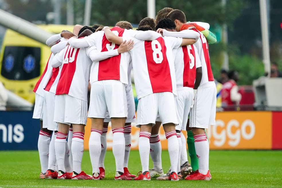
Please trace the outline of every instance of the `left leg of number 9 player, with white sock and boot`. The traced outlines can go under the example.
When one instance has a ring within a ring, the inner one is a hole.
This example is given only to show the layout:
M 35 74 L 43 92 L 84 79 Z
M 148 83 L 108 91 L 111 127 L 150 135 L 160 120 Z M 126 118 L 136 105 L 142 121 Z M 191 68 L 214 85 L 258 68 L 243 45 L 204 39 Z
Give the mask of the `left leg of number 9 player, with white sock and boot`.
M 89 153 L 92 164 L 93 179 L 99 180 L 99 158 L 101 155 L 101 135 L 103 132 L 103 118 L 91 118 L 91 134 L 89 138 Z

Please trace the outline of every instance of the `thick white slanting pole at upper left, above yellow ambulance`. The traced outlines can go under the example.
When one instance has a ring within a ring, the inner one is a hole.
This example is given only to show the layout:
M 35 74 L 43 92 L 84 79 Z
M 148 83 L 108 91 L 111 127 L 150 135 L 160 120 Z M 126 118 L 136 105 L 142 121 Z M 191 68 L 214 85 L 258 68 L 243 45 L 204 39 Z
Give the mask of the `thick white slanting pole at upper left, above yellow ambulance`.
M 28 36 L 42 44 L 46 44 L 46 40 L 53 35 L 52 33 L 37 27 L 35 24 L 3 11 L 2 9 L 0 9 L 0 25 Z

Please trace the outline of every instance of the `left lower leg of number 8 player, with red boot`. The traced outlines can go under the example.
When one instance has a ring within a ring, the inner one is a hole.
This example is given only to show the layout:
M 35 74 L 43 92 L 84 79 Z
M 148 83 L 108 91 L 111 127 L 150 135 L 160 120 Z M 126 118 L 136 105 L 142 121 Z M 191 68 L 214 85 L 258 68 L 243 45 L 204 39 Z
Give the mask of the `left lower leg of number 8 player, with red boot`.
M 152 126 L 153 124 L 140 125 L 138 146 L 142 171 L 138 173 L 138 177 L 134 178 L 135 180 L 151 180 L 149 173 L 149 155 Z

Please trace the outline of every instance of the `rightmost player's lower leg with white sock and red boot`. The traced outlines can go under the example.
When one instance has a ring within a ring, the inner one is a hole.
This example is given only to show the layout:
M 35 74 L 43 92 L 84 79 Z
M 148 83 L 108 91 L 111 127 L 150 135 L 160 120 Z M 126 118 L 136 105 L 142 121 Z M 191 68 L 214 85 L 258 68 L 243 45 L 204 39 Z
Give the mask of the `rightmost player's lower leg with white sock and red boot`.
M 192 127 L 192 133 L 195 140 L 195 150 L 199 159 L 199 170 L 192 175 L 187 176 L 186 180 L 210 180 L 211 174 L 209 172 L 209 142 L 205 134 L 204 128 Z

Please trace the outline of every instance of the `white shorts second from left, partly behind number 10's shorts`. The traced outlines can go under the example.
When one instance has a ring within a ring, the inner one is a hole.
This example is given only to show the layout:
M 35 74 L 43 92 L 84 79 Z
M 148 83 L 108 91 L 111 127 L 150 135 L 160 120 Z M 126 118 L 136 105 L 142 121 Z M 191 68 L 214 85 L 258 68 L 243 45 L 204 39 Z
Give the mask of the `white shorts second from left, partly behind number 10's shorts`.
M 54 122 L 54 109 L 55 94 L 49 91 L 44 91 L 43 128 L 47 128 L 51 131 L 58 130 L 58 123 Z

